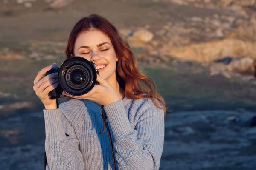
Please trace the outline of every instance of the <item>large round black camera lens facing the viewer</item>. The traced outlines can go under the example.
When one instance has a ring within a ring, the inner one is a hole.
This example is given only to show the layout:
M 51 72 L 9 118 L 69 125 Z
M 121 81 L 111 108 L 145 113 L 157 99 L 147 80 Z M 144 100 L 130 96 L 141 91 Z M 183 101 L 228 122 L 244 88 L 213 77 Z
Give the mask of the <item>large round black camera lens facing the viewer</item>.
M 96 84 L 96 69 L 83 57 L 66 59 L 60 67 L 60 82 L 64 91 L 72 95 L 82 95 Z

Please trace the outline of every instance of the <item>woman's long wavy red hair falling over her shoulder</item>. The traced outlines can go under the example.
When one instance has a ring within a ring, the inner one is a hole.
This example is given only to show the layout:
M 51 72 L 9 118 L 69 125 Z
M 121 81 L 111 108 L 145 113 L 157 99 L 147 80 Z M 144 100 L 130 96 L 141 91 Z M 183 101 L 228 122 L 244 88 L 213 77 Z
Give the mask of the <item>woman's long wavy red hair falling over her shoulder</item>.
M 110 38 L 116 57 L 118 57 L 116 79 L 120 87 L 125 90 L 125 96 L 130 99 L 152 97 L 157 108 L 164 109 L 166 112 L 164 99 L 157 93 L 155 83 L 151 78 L 139 72 L 137 59 L 128 42 L 122 39 L 117 29 L 105 18 L 92 14 L 89 17 L 81 18 L 76 23 L 70 32 L 65 50 L 67 58 L 74 56 L 74 46 L 78 35 L 91 29 L 97 29 Z M 140 82 L 143 82 L 147 88 L 143 88 Z

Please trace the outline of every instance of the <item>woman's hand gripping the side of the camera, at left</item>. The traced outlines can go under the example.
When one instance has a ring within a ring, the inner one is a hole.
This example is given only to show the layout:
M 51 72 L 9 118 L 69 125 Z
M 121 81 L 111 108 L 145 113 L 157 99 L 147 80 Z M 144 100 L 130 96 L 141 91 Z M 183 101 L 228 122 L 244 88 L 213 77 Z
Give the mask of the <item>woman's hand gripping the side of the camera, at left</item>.
M 40 70 L 35 77 L 33 89 L 35 94 L 41 99 L 45 109 L 56 109 L 56 99 L 49 98 L 49 92 L 58 86 L 57 73 L 52 73 L 44 77 L 44 74 L 57 67 L 55 63 Z

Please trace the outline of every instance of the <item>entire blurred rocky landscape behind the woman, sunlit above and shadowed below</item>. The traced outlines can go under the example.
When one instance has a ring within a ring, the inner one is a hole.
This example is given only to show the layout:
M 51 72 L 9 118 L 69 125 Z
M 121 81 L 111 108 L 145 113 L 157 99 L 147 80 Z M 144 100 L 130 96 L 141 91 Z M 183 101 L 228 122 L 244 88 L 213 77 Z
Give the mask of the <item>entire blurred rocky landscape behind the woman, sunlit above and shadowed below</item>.
M 33 80 L 88 14 L 119 29 L 169 107 L 160 170 L 256 169 L 256 0 L 1 0 L 1 170 L 43 169 Z

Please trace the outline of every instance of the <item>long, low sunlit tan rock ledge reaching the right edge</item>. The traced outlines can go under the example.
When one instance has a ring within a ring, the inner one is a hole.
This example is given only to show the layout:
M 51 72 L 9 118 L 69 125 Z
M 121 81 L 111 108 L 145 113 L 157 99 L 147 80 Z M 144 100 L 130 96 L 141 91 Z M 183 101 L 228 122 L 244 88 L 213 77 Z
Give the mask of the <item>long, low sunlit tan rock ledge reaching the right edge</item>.
M 183 60 L 213 62 L 223 56 L 251 56 L 256 58 L 256 42 L 227 38 L 180 47 L 163 46 L 162 55 Z

